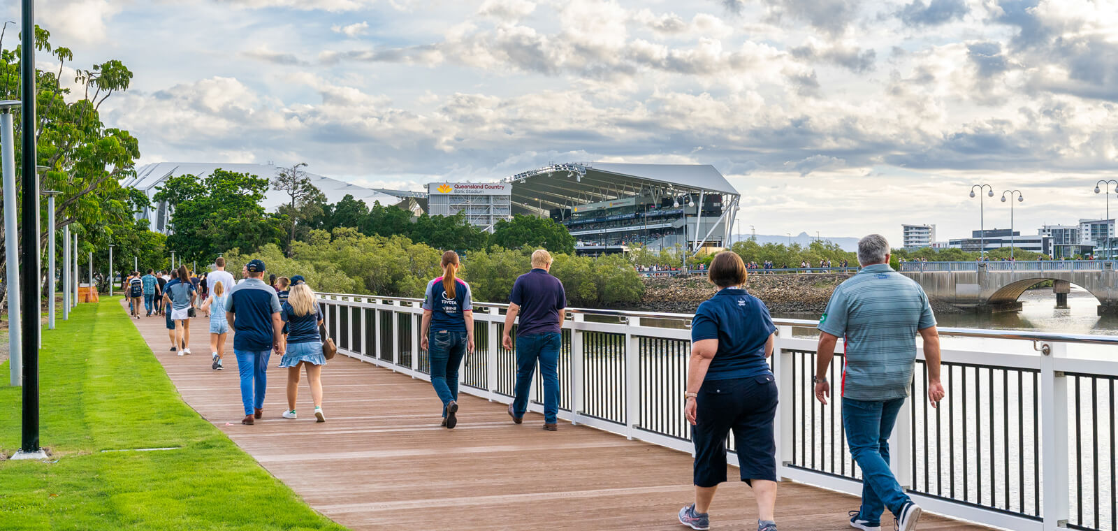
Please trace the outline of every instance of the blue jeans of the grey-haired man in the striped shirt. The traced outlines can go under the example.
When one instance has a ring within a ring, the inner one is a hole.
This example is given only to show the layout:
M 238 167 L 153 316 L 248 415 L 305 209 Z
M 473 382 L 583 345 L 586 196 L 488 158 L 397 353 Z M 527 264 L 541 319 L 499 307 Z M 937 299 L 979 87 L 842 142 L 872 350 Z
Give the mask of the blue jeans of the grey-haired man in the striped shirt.
M 904 504 L 911 502 L 889 467 L 889 436 L 903 404 L 903 398 L 885 401 L 842 399 L 846 443 L 851 456 L 862 468 L 860 518 L 871 523 L 881 521 L 885 508 L 893 514 L 900 514 Z

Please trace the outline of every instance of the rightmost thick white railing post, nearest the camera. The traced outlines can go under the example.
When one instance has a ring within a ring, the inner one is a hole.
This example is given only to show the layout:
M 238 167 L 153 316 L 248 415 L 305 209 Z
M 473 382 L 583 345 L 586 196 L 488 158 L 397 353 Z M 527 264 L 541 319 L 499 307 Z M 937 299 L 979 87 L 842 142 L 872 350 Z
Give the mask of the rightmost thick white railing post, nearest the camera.
M 1044 531 L 1067 528 L 1069 518 L 1068 378 L 1057 370 L 1065 343 L 1041 345 L 1041 489 Z

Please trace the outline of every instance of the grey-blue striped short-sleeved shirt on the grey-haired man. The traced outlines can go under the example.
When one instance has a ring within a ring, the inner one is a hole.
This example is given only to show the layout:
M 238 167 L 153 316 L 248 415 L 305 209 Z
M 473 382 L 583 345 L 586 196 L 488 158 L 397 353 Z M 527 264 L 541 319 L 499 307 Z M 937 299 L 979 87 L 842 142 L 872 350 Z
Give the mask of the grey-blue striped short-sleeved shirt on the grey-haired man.
M 888 264 L 864 267 L 842 283 L 831 295 L 818 329 L 846 340 L 843 398 L 908 397 L 917 332 L 935 325 L 923 288 Z

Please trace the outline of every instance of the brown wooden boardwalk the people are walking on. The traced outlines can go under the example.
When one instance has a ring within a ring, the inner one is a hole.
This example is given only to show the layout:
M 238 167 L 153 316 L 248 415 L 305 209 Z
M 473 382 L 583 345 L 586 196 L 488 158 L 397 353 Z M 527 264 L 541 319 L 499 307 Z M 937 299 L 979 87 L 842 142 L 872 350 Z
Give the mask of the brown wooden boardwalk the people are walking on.
M 231 338 L 226 369 L 212 371 L 208 319 L 193 320 L 193 353 L 186 357 L 169 352 L 163 317 L 135 323 L 187 404 L 350 529 L 686 529 L 675 518 L 692 500 L 686 454 L 561 421 L 559 432 L 542 432 L 534 414 L 513 425 L 505 406 L 467 395 L 458 427 L 447 430 L 438 426 L 440 405 L 428 383 L 344 355 L 323 369 L 325 424 L 314 421 L 305 378 L 300 418 L 281 418 L 286 373 L 273 357 L 264 418 L 243 426 Z M 787 482 L 777 523 L 785 531 L 851 529 L 846 511 L 856 508 L 852 496 Z M 723 485 L 711 518 L 716 530 L 757 529 L 749 489 Z M 883 520 L 892 529 L 888 514 Z M 985 528 L 929 515 L 920 529 Z

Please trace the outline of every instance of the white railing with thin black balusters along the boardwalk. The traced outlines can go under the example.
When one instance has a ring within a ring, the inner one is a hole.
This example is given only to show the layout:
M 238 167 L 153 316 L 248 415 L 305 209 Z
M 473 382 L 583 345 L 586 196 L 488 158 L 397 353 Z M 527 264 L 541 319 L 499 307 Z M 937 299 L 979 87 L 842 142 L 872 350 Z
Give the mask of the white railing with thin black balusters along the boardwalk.
M 418 338 L 421 301 L 320 294 L 320 302 L 339 352 L 429 380 Z M 501 345 L 506 305 L 474 309 L 476 351 L 461 371 L 462 391 L 509 404 L 515 351 Z M 559 417 L 692 452 L 682 399 L 692 315 L 567 313 Z M 778 475 L 859 494 L 861 474 L 846 446 L 841 400 L 823 406 L 813 398 L 815 323 L 776 323 Z M 920 351 L 912 398 L 890 439 L 893 471 L 909 494 L 929 511 L 1002 529 L 1114 530 L 1118 336 L 966 329 L 940 334 L 947 398 L 938 408 L 927 405 Z M 843 350 L 840 342 L 831 368 L 836 388 Z M 541 387 L 533 379 L 532 411 L 542 411 Z M 736 449 L 732 436 L 728 447 Z

